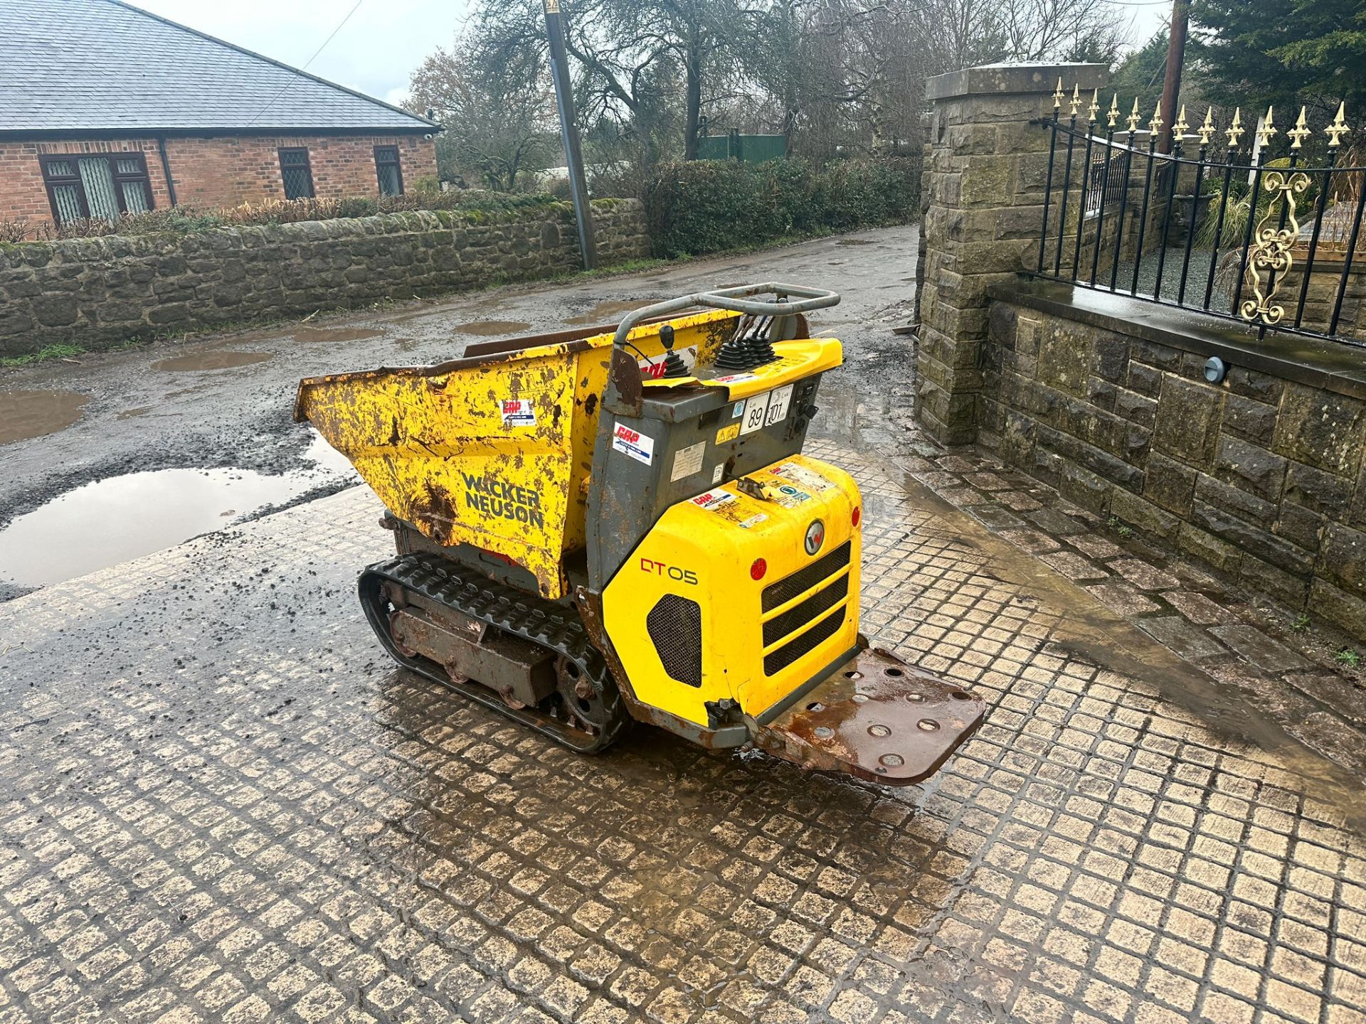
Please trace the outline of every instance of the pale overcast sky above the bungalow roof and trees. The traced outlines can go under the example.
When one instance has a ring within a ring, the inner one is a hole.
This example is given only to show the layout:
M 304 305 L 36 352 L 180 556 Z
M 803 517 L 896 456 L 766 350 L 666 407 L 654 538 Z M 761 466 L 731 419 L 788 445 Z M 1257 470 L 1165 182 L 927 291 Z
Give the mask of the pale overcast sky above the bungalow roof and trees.
M 1142 42 L 1162 25 L 1167 0 L 1108 0 L 1117 20 L 1134 20 Z M 303 67 L 355 0 L 131 0 L 163 18 Z M 346 26 L 309 67 L 314 75 L 402 102 L 408 75 L 428 53 L 448 46 L 467 0 L 361 0 Z

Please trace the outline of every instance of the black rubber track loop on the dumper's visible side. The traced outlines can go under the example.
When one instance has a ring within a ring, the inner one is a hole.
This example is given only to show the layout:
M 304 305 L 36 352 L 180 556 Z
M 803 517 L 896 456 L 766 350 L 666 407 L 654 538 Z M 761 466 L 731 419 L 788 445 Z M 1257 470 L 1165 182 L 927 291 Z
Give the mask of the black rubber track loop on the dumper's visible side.
M 454 683 L 443 669 L 426 658 L 408 658 L 395 647 L 389 635 L 389 620 L 380 593 L 385 580 L 576 662 L 591 680 L 607 709 L 607 726 L 598 736 L 589 736 L 531 707 L 511 709 L 497 694 L 478 683 Z M 367 567 L 357 580 L 357 590 L 366 618 L 395 661 L 448 689 L 478 700 L 499 714 L 531 726 L 570 750 L 579 754 L 598 754 L 616 743 L 631 725 L 631 717 L 602 654 L 589 640 L 578 616 L 567 613 L 563 606 L 484 576 L 463 575 L 459 567 L 428 553 L 402 554 Z

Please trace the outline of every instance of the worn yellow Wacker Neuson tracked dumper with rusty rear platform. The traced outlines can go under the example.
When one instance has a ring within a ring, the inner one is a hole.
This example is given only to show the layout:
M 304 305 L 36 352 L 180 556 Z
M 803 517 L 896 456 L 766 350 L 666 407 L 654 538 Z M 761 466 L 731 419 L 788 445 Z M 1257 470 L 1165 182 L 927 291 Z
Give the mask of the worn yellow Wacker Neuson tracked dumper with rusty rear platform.
M 295 419 L 388 509 L 398 556 L 359 579 L 388 651 L 582 752 L 637 720 L 891 785 L 933 773 L 984 703 L 869 649 L 859 490 L 802 455 L 843 360 L 805 314 L 837 302 L 724 288 L 302 381 Z

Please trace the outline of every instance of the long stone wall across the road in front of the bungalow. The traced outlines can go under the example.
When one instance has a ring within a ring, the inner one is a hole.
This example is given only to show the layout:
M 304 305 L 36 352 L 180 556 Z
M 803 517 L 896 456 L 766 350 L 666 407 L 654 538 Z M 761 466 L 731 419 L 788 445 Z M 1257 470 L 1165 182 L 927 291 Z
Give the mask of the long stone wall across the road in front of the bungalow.
M 649 255 L 637 199 L 593 203 L 604 266 Z M 0 244 L 0 355 L 107 348 L 582 268 L 568 203 Z

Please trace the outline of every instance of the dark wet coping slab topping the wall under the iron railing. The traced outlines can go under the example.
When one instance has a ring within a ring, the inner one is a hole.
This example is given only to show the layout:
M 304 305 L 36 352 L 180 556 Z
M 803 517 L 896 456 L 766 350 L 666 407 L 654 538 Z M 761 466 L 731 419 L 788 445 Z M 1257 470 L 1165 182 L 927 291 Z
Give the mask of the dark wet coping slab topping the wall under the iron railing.
M 1161 306 L 1124 295 L 1022 277 L 989 285 L 990 299 L 1068 317 L 1195 355 L 1281 377 L 1337 395 L 1366 399 L 1366 348 L 1296 335 L 1265 337 L 1197 310 Z

